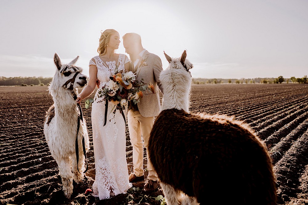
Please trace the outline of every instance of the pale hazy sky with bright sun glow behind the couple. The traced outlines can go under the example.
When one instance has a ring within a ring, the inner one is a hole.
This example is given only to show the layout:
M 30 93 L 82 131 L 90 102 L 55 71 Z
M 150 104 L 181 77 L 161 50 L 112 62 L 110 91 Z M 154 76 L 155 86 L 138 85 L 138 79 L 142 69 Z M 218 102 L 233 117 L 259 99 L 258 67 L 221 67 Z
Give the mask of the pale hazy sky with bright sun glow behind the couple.
M 140 34 L 164 69 L 164 51 L 186 49 L 193 77 L 303 77 L 307 11 L 306 0 L 1 0 L 0 76 L 52 77 L 55 52 L 63 63 L 79 55 L 88 75 L 101 30 L 112 28 Z

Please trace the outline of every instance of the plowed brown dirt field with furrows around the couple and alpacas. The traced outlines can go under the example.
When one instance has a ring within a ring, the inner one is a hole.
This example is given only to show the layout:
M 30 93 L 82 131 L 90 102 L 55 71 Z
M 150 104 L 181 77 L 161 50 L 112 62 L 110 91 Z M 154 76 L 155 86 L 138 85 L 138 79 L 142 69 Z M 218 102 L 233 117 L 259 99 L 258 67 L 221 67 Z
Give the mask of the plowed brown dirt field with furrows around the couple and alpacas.
M 83 108 L 91 146 L 87 153 L 89 180 L 74 183 L 72 198 L 65 199 L 58 166 L 43 134 L 45 113 L 53 104 L 47 89 L 0 87 L 0 204 L 160 204 L 155 197 L 163 195 L 161 189 L 148 196 L 131 191 L 101 201 L 84 194 L 95 179 L 91 108 Z M 193 85 L 190 110 L 245 120 L 267 145 L 272 157 L 278 204 L 308 204 L 308 85 Z M 126 140 L 130 173 L 132 146 L 128 128 Z M 146 164 L 144 155 L 144 168 Z M 144 182 L 133 186 L 141 189 Z M 221 190 L 223 193 L 224 187 Z

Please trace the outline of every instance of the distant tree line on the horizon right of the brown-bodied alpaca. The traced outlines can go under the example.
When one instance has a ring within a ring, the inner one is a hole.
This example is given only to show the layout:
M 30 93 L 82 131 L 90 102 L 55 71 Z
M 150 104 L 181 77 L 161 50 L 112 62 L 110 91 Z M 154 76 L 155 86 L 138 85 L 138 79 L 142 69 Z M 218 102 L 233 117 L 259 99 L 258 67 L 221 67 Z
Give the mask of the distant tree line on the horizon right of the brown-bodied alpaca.
M 291 77 L 290 79 L 285 79 L 282 76 L 279 76 L 278 78 L 241 78 L 241 79 L 217 79 L 217 78 L 193 78 L 192 83 L 193 84 L 221 84 L 221 83 L 236 83 L 236 84 L 248 84 L 248 83 L 289 83 L 292 81 L 293 83 L 308 83 L 307 76 L 304 76 L 302 78 L 296 78 Z

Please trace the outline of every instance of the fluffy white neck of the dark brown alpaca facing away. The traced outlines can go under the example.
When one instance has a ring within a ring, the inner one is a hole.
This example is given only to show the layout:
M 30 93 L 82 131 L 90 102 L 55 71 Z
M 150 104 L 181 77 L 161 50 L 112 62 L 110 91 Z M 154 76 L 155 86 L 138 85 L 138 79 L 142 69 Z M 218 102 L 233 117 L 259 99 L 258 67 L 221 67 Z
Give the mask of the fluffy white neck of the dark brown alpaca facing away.
M 191 77 L 183 69 L 164 70 L 160 81 L 164 88 L 162 110 L 178 109 L 189 112 Z

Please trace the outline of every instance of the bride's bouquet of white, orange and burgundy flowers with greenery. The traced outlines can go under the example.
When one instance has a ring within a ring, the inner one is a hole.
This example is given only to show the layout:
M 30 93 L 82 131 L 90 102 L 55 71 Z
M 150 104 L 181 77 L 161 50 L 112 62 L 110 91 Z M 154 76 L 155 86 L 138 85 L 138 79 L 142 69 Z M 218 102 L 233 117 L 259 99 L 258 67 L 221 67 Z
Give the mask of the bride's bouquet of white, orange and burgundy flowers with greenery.
M 136 80 L 136 75 L 132 71 L 120 70 L 115 67 L 115 73 L 110 77 L 110 80 L 99 89 L 96 98 L 102 98 L 101 101 L 112 101 L 115 103 L 115 109 L 123 112 L 128 101 L 137 104 L 140 98 L 143 97 L 143 91 L 151 90 L 154 93 L 154 85 L 147 84 L 141 79 L 140 83 Z M 101 102 L 99 101 L 99 102 Z M 85 108 L 89 108 L 94 102 L 93 99 L 88 99 L 85 102 Z

